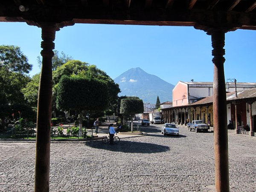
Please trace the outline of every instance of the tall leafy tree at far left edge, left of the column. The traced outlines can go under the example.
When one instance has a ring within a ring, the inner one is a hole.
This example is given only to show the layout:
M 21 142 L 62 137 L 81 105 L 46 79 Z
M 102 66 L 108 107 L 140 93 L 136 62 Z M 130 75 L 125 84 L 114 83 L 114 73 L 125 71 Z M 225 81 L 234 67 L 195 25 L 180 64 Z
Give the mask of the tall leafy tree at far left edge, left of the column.
M 0 101 L 1 104 L 25 102 L 21 89 L 29 81 L 28 73 L 32 65 L 28 63 L 20 47 L 0 46 Z

